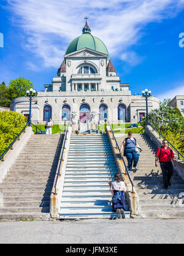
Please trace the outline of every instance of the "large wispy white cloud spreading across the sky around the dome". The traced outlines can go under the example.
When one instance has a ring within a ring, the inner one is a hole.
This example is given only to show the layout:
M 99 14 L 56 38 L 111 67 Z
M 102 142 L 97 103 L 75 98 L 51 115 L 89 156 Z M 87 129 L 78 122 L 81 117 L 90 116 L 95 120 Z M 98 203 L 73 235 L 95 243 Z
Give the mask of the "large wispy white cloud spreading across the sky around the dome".
M 130 50 L 150 22 L 172 18 L 184 8 L 184 0 L 9 0 L 13 22 L 23 28 L 25 48 L 42 58 L 46 67 L 63 60 L 67 45 L 82 33 L 86 15 L 91 34 L 102 39 L 110 57 L 129 61 L 139 58 Z

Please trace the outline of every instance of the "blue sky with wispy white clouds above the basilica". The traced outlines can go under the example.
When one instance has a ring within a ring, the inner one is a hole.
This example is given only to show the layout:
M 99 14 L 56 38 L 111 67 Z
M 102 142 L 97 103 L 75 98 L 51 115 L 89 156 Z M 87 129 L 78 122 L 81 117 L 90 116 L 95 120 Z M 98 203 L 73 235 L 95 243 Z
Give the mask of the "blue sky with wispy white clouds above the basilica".
M 1 0 L 0 6 L 0 82 L 25 77 L 44 90 L 87 15 L 132 94 L 147 88 L 159 99 L 184 95 L 184 0 Z

